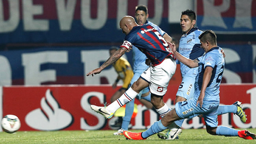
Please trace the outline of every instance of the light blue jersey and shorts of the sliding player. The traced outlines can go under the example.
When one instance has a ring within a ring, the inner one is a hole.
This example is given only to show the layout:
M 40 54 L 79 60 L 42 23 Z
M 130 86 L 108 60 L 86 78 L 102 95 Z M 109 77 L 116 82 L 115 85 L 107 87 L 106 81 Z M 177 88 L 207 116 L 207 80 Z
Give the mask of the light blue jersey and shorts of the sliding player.
M 217 127 L 217 111 L 219 107 L 219 86 L 224 70 L 224 57 L 219 47 L 213 47 L 202 57 L 197 58 L 199 60 L 199 74 L 197 75 L 196 91 L 193 98 L 177 102 L 175 110 L 180 118 L 193 118 L 200 114 L 203 115 L 206 125 L 210 127 Z M 202 87 L 202 78 L 204 75 L 204 69 L 206 67 L 212 67 L 212 75 L 210 82 L 206 88 L 205 96 L 200 108 L 200 104 L 197 105 L 197 99 L 200 95 Z M 197 106 L 196 106 L 197 105 Z

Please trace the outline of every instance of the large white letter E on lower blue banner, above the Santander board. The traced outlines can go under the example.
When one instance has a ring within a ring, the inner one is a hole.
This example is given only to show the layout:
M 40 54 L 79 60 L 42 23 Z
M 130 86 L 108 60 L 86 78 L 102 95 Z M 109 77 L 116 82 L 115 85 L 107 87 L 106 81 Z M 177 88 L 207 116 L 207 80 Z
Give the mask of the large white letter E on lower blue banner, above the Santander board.
M 24 84 L 41 84 L 42 82 L 56 81 L 56 70 L 40 71 L 41 64 L 58 63 L 67 64 L 67 51 L 43 51 L 22 54 L 24 66 Z

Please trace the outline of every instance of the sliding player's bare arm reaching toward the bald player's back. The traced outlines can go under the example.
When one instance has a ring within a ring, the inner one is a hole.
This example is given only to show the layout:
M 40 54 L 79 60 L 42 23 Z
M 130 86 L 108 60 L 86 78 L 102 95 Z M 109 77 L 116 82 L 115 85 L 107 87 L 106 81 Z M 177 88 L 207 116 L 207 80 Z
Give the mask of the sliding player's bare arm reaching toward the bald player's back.
M 192 67 L 198 67 L 198 60 L 191 60 L 189 58 L 186 58 L 184 56 L 182 56 L 180 53 L 178 53 L 176 51 L 176 46 L 175 44 L 167 41 L 167 44 L 169 45 L 169 47 L 171 48 L 173 55 L 175 58 L 177 58 L 180 62 L 182 62 L 183 64 L 185 64 L 186 66 L 192 68 Z

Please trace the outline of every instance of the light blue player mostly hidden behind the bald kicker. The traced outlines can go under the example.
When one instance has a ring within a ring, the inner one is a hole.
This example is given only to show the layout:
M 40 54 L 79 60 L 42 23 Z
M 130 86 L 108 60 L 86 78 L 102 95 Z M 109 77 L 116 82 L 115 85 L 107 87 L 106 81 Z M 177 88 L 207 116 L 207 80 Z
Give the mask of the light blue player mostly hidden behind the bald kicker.
M 162 29 L 160 29 L 159 26 L 153 24 L 152 22 L 149 22 L 148 20 L 148 9 L 145 5 L 138 5 L 135 7 L 135 20 L 137 24 L 143 25 L 143 24 L 150 24 L 154 28 L 158 30 L 161 36 L 165 38 L 166 41 L 172 41 L 171 36 L 169 36 L 167 33 L 165 33 Z M 133 71 L 134 71 L 134 77 L 132 78 L 131 84 L 133 84 L 140 76 L 141 73 L 143 73 L 148 66 L 145 64 L 146 61 L 146 55 L 143 54 L 137 47 L 132 46 L 132 54 L 133 54 Z M 150 93 L 148 87 L 143 89 L 139 95 L 137 96 L 138 99 L 141 100 L 145 99 L 148 102 L 150 102 Z M 112 102 L 112 101 L 111 101 Z M 145 105 L 145 103 L 143 103 Z M 122 121 L 122 127 L 117 132 L 114 133 L 114 135 L 122 135 L 124 130 L 128 130 L 128 125 L 130 124 L 130 120 L 132 117 L 132 113 L 134 111 L 134 100 L 131 102 L 128 102 L 125 107 L 125 116 Z M 158 111 L 158 109 L 156 110 Z

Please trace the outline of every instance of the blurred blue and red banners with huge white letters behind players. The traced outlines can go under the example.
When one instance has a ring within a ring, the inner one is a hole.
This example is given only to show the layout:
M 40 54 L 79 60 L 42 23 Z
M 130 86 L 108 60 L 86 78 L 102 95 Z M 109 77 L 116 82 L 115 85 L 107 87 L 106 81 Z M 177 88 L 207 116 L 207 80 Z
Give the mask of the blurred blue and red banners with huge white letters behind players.
M 0 85 L 112 84 L 113 67 L 85 74 L 122 44 L 119 21 L 138 4 L 177 41 L 181 12 L 196 11 L 196 25 L 215 31 L 225 50 L 222 82 L 256 82 L 256 0 L 1 0 Z

